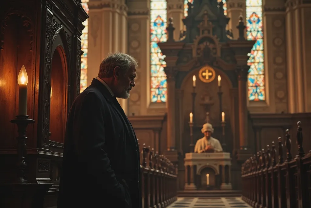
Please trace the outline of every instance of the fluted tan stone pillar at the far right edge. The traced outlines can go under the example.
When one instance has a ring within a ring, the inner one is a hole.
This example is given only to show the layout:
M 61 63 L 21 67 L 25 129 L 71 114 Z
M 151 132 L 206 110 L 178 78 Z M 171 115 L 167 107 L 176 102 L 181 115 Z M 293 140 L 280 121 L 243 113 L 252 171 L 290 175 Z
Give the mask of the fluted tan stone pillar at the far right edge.
M 308 91 L 311 89 L 308 76 L 311 75 L 309 47 L 309 32 L 311 29 L 307 19 L 310 19 L 310 3 L 299 0 L 287 0 L 286 6 L 286 52 L 288 102 L 290 113 L 302 113 L 311 110 Z

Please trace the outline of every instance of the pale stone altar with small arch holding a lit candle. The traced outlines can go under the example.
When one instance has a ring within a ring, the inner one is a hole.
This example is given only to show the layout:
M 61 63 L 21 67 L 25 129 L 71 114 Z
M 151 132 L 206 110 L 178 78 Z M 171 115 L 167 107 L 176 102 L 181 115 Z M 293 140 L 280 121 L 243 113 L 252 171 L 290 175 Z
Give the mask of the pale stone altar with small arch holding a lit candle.
M 198 186 L 206 189 L 232 189 L 230 153 L 186 153 L 184 165 L 185 190 L 197 190 Z M 197 183 L 198 175 L 201 175 L 201 183 Z M 216 185 L 216 176 L 220 178 L 219 187 Z

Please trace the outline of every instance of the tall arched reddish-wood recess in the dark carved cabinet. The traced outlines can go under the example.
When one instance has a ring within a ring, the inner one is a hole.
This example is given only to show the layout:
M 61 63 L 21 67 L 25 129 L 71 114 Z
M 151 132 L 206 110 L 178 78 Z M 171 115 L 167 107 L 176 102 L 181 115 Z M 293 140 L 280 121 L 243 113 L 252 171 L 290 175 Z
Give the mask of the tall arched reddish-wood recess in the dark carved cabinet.
M 50 140 L 64 143 L 67 120 L 67 61 L 62 46 L 57 46 L 52 56 Z

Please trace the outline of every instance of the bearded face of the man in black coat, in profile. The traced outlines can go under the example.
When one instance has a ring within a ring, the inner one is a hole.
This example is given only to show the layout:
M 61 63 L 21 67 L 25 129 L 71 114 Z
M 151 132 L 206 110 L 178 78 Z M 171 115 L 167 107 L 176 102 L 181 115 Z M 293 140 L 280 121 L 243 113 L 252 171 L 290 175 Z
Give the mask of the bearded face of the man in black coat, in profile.
M 127 72 L 124 72 L 120 68 L 116 68 L 115 70 L 118 70 L 119 72 L 116 73 L 118 74 L 118 76 L 115 76 L 115 96 L 117 98 L 127 99 L 130 97 L 130 90 L 132 89 L 132 87 L 135 87 L 134 79 L 136 78 L 136 68 L 132 66 Z

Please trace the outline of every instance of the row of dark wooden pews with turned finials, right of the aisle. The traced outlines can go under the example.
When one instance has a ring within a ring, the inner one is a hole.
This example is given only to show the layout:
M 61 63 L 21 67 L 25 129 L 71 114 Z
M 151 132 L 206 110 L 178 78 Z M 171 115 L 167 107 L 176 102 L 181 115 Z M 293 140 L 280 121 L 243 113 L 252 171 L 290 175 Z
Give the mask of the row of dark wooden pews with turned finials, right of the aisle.
M 305 154 L 301 122 L 297 123 L 298 154 L 291 154 L 291 140 L 286 130 L 284 150 L 281 137 L 278 148 L 259 151 L 242 165 L 243 200 L 253 207 L 308 208 L 311 199 L 311 151 Z M 310 141 L 307 141 L 310 142 Z M 278 151 L 276 151 L 278 149 Z M 286 151 L 286 159 L 283 159 Z M 278 152 L 278 153 L 277 153 Z M 278 155 L 278 161 L 276 157 Z

